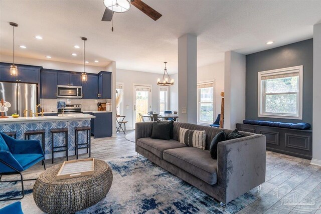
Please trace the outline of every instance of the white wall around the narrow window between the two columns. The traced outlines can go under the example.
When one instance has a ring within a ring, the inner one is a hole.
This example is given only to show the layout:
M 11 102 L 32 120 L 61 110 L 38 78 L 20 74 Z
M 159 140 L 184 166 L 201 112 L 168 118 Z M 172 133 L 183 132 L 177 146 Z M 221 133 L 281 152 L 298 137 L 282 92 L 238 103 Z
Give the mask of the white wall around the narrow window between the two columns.
M 221 113 L 221 92 L 224 91 L 224 62 L 215 63 L 197 69 L 197 81 L 215 80 L 214 119 Z

